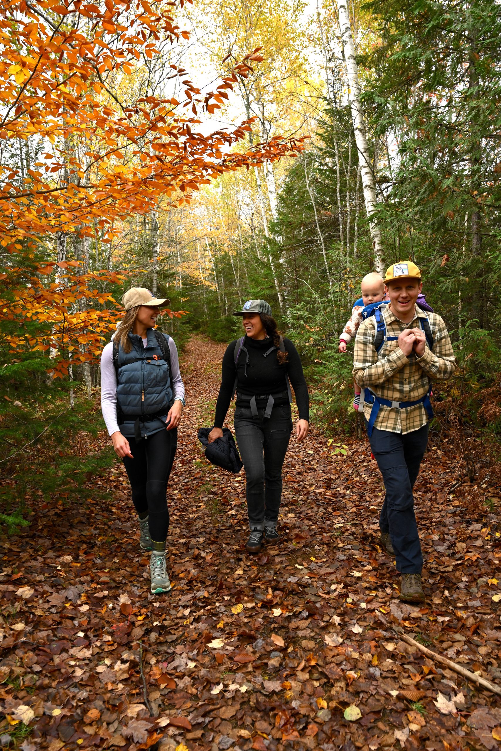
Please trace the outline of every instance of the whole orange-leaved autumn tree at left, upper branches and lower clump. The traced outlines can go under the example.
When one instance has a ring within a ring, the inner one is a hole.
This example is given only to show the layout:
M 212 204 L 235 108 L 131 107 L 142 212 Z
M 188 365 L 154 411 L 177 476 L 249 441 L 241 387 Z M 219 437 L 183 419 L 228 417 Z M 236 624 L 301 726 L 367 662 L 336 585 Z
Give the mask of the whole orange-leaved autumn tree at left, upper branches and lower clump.
M 221 107 L 238 77 L 261 61 L 259 50 L 214 91 L 198 89 L 171 65 L 181 96 L 122 98 L 116 84 L 142 56 L 188 38 L 175 20 L 178 5 L 183 0 L 0 2 L 0 146 L 7 155 L 0 164 L 0 342 L 14 353 L 59 351 L 47 365 L 55 375 L 95 360 L 116 320 L 110 285 L 123 277 L 89 272 L 96 232 L 110 242 L 131 214 L 160 201 L 164 209 L 189 202 L 228 170 L 301 149 L 300 140 L 276 137 L 238 151 L 249 121 L 205 136 L 197 129 L 198 113 Z M 23 143 L 32 142 L 36 156 L 28 148 L 23 160 Z M 8 158 L 13 143 L 16 167 Z M 77 260 L 68 261 L 71 249 Z

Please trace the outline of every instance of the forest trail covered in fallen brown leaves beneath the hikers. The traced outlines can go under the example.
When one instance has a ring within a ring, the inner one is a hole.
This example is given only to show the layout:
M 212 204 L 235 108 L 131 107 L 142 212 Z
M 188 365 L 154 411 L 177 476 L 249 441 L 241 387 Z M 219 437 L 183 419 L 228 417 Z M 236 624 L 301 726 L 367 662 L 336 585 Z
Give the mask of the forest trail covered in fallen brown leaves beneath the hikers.
M 111 497 L 41 502 L 29 529 L 8 540 L 2 744 L 499 748 L 496 698 L 392 630 L 501 682 L 497 516 L 477 518 L 448 494 L 459 457 L 430 445 L 416 485 L 423 608 L 398 601 L 394 562 L 378 547 L 382 484 L 365 439 L 345 439 L 346 456 L 314 428 L 304 445 L 291 440 L 281 539 L 251 557 L 243 473 L 208 465 L 196 439 L 211 422 L 223 351 L 193 337 L 183 355 L 170 596 L 149 594 L 149 556 L 118 462 L 96 485 Z

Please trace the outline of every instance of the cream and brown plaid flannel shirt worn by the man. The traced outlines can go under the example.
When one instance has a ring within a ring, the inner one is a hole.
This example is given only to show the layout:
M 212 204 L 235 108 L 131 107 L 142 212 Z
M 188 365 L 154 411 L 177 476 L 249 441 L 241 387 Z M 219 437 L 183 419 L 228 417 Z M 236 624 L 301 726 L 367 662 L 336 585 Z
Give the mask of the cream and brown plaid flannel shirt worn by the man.
M 362 388 L 370 388 L 381 399 L 395 402 L 415 402 L 427 393 L 434 379 L 448 379 L 456 369 L 454 351 L 444 321 L 436 313 L 425 313 L 415 306 L 415 318 L 410 324 L 402 321 L 385 306 L 382 312 L 387 336 L 400 336 L 406 328 L 420 328 L 419 318 L 428 318 L 433 334 L 433 349 L 426 344 L 422 357 L 415 351 L 403 354 L 397 341 L 385 342 L 376 352 L 376 318 L 371 316 L 358 329 L 353 357 L 353 376 Z M 370 418 L 371 404 L 364 404 L 364 416 Z M 374 427 L 391 433 L 411 433 L 427 424 L 428 415 L 422 404 L 400 409 L 381 405 Z

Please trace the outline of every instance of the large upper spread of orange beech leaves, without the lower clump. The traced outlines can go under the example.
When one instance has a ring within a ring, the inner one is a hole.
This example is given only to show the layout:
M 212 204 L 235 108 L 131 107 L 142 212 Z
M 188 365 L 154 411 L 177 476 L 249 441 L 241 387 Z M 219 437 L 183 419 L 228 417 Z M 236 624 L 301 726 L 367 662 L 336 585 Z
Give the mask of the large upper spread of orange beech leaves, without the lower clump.
M 112 86 L 132 73 L 140 54 L 152 57 L 158 41 L 187 37 L 174 23 L 176 6 L 0 3 L 0 139 L 37 135 L 47 141 L 25 179 L 0 167 L 2 245 L 54 231 L 90 234 L 94 220 L 110 238 L 113 221 L 145 213 L 161 197 L 183 203 L 225 171 L 300 150 L 300 140 L 276 137 L 231 152 L 250 121 L 231 133 L 196 131 L 198 109 L 213 113 L 221 107 L 227 89 L 262 59 L 258 50 L 235 65 L 215 92 L 201 92 L 183 68 L 171 65 L 182 80 L 183 101 L 154 96 L 120 101 Z M 86 146 L 80 161 L 72 143 L 80 152 Z

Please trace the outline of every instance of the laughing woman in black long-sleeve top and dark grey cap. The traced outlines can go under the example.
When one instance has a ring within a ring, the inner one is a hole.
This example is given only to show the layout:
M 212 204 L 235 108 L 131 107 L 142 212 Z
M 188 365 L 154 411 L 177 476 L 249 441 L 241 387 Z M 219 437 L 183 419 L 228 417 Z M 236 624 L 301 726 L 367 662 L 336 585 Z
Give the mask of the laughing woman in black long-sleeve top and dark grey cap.
M 246 336 L 231 342 L 222 358 L 222 382 L 209 442 L 222 437 L 236 387 L 234 426 L 246 470 L 250 527 L 246 549 L 258 553 L 263 541 L 279 538 L 276 522 L 282 497 L 282 465 L 293 428 L 288 382 L 294 388 L 299 411 L 298 441 L 308 433 L 309 397 L 297 349 L 276 330 L 268 303 L 248 300 L 234 315 L 243 317 Z

